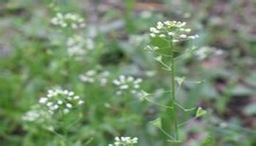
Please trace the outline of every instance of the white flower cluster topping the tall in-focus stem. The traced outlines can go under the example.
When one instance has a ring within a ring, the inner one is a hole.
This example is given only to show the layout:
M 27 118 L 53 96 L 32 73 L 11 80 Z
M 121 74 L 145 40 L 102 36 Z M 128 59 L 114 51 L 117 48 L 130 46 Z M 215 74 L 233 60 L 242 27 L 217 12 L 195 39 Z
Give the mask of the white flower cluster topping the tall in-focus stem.
M 181 42 L 188 39 L 196 39 L 199 37 L 197 34 L 190 35 L 191 28 L 185 28 L 185 22 L 179 21 L 165 21 L 158 22 L 156 27 L 151 27 L 150 37 L 162 37 L 170 39 L 172 42 Z

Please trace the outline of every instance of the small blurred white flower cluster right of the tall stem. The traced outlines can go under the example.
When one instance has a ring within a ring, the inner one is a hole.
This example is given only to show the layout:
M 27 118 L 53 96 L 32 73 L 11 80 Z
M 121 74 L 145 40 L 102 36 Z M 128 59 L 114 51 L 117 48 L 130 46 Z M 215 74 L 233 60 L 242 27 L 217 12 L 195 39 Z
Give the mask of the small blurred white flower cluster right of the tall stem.
M 200 47 L 199 49 L 195 50 L 195 55 L 199 60 L 204 60 L 208 58 L 209 55 L 222 55 L 223 50 L 219 50 L 216 47 Z

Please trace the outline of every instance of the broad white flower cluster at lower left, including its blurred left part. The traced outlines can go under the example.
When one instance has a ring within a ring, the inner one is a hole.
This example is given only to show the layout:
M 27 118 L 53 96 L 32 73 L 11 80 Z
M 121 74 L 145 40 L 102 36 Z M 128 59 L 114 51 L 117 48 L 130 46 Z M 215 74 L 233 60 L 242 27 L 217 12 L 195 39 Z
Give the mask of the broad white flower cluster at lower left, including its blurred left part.
M 42 121 L 52 118 L 61 112 L 67 114 L 70 110 L 83 104 L 84 101 L 80 96 L 76 96 L 74 92 L 63 90 L 61 88 L 53 88 L 48 90 L 45 97 L 41 97 L 34 107 L 23 116 L 23 120 Z

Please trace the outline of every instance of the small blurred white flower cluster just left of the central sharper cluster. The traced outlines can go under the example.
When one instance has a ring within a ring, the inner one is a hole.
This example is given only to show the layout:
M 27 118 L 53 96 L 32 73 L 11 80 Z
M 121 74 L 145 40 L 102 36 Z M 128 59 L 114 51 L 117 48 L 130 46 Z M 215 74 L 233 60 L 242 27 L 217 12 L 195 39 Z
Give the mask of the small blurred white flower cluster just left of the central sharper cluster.
M 108 71 L 97 72 L 95 70 L 89 70 L 84 74 L 80 74 L 79 78 L 82 82 L 97 82 L 100 86 L 105 86 L 108 83 L 109 75 L 110 73 Z

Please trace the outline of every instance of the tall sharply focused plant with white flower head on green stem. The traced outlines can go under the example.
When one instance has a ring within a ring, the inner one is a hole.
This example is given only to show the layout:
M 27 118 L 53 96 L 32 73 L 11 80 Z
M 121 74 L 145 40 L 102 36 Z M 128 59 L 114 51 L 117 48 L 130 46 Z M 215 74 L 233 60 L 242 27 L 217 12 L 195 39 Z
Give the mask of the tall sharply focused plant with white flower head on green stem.
M 151 27 L 149 31 L 151 42 L 146 47 L 146 50 L 156 54 L 155 60 L 162 65 L 162 69 L 170 72 L 170 99 L 168 104 L 165 105 L 167 110 L 162 113 L 159 119 L 160 122 L 158 120 L 154 122 L 161 123 L 159 128 L 165 134 L 165 145 L 168 145 L 168 141 L 179 143 L 181 139 L 178 137 L 178 108 L 181 108 L 184 112 L 189 110 L 176 101 L 176 82 L 181 85 L 184 81 L 183 78 L 176 77 L 176 58 L 184 52 L 177 46 L 177 43 L 196 39 L 198 35 L 191 34 L 191 28 L 187 28 L 185 22 L 178 21 L 158 22 L 157 26 Z M 195 110 L 195 108 L 192 110 Z

